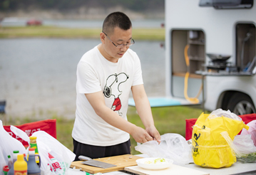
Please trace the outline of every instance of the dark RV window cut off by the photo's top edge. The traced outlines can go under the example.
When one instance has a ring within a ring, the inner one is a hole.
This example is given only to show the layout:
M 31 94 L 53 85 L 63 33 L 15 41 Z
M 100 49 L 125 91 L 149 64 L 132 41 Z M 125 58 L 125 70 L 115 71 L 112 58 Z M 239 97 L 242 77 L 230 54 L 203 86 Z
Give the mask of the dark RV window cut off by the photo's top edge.
M 250 9 L 253 0 L 200 0 L 199 6 L 213 6 L 215 9 Z

